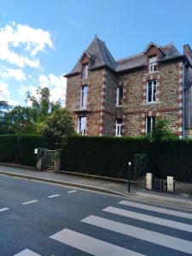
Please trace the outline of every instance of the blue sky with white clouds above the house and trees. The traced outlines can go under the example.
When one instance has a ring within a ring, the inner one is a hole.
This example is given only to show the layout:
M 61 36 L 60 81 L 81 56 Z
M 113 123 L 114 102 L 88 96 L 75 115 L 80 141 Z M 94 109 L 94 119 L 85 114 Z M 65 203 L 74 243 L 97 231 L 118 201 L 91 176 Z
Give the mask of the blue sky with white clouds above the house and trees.
M 150 43 L 192 48 L 192 0 L 0 0 L 0 100 L 49 87 L 65 105 L 70 72 L 95 35 L 115 59 Z

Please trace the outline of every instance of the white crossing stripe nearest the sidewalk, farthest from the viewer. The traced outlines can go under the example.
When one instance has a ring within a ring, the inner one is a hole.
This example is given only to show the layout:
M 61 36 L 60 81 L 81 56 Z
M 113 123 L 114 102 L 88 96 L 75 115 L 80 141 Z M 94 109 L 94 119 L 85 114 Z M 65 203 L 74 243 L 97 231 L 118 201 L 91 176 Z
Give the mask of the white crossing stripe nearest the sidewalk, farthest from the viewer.
M 152 207 L 152 206 L 148 206 L 148 205 L 135 203 L 133 201 L 119 201 L 119 204 L 127 206 L 127 207 L 137 207 L 137 208 L 143 209 L 143 210 L 148 210 L 148 211 L 153 211 L 153 212 L 160 212 L 160 213 L 169 214 L 169 215 L 173 215 L 173 216 L 177 216 L 177 217 L 181 217 L 181 218 L 190 218 L 190 219 L 192 219 L 192 214 L 187 213 L 187 212 L 177 212 L 177 211 L 173 211 L 173 210 L 166 209 L 166 208 Z

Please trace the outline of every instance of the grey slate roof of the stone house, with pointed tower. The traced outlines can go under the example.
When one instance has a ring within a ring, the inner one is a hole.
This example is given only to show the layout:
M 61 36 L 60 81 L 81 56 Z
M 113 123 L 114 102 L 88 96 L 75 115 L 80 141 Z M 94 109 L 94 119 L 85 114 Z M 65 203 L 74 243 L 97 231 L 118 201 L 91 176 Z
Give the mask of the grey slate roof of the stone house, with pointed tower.
M 180 54 L 180 52 L 177 50 L 173 43 L 167 44 L 161 47 L 161 49 L 164 50 L 166 55 L 162 54 L 160 61 L 166 61 L 168 59 L 176 58 L 178 56 L 183 56 Z M 111 55 L 110 51 L 108 50 L 105 42 L 103 42 L 100 38 L 97 38 L 97 36 L 91 42 L 88 49 L 86 49 L 84 52 L 88 53 L 93 60 L 90 65 L 90 70 L 97 67 L 107 66 L 114 72 L 123 72 L 132 68 L 143 67 L 145 62 L 144 53 L 138 55 L 131 55 L 129 57 L 115 61 L 113 55 Z M 67 73 L 66 77 L 79 73 L 80 67 L 80 61 L 78 61 L 75 67 L 73 67 L 72 71 L 70 73 Z

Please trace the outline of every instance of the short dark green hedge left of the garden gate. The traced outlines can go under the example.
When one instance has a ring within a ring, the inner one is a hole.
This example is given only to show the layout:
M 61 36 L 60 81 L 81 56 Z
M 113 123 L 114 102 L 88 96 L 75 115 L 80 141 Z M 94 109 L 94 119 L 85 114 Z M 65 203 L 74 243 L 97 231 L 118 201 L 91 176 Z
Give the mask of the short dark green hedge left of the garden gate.
M 35 166 L 34 148 L 44 147 L 44 137 L 34 135 L 1 135 L 0 162 Z

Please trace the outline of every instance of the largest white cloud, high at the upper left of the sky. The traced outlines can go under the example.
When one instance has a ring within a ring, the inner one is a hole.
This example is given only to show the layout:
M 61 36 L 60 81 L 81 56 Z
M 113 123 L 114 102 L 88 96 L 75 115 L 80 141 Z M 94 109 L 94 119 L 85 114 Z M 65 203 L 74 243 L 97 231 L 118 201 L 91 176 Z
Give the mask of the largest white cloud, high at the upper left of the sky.
M 9 23 L 0 28 L 0 59 L 19 67 L 39 67 L 35 56 L 53 48 L 50 33 L 27 25 Z M 21 51 L 21 53 L 20 53 Z

